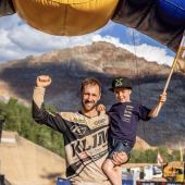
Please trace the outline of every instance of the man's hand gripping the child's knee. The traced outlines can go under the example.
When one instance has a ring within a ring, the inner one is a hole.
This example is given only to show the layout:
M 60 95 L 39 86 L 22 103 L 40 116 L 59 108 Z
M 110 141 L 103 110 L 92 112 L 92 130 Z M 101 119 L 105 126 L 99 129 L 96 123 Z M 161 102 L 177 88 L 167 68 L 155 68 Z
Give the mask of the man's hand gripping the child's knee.
M 113 153 L 112 162 L 115 165 L 122 165 L 122 164 L 126 163 L 128 160 L 130 160 L 130 158 L 127 157 L 127 155 L 124 151 Z

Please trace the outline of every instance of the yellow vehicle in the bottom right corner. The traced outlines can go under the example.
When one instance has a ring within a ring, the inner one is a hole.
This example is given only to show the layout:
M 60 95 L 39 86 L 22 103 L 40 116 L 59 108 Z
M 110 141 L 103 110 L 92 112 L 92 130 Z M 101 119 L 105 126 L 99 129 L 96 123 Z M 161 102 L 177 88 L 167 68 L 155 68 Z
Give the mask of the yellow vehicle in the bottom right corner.
M 185 182 L 184 162 L 173 161 L 163 165 L 163 177 L 173 182 Z

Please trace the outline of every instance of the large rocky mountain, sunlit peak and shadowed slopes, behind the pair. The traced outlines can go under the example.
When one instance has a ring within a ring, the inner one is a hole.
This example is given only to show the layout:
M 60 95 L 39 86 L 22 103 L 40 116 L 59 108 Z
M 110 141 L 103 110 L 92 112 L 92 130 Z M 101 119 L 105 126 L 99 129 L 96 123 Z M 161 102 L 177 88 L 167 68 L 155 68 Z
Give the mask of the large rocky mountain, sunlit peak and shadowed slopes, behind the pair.
M 36 76 L 49 74 L 52 84 L 47 89 L 46 102 L 55 104 L 59 111 L 78 110 L 81 82 L 94 76 L 103 85 L 101 102 L 109 109 L 115 102 L 108 90 L 112 77 L 127 76 L 134 83 L 132 99 L 152 107 L 163 90 L 169 72 L 166 65 L 147 62 L 111 44 L 94 42 L 1 64 L 0 97 L 7 100 L 15 96 L 30 103 Z M 138 136 L 149 145 L 177 148 L 177 144 L 185 144 L 184 79 L 184 74 L 174 73 L 159 116 L 139 124 Z

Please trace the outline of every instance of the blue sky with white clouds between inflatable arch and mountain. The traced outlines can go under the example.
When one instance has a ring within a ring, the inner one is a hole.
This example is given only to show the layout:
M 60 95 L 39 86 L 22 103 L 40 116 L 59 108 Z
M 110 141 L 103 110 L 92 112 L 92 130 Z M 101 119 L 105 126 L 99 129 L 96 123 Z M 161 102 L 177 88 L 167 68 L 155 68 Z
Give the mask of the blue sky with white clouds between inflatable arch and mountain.
M 134 40 L 133 40 L 134 34 Z M 25 24 L 16 14 L 0 18 L 0 62 L 40 55 L 52 50 L 108 41 L 148 61 L 171 65 L 174 53 L 135 29 L 109 22 L 101 29 L 84 36 L 51 36 Z M 135 41 L 135 46 L 134 46 Z

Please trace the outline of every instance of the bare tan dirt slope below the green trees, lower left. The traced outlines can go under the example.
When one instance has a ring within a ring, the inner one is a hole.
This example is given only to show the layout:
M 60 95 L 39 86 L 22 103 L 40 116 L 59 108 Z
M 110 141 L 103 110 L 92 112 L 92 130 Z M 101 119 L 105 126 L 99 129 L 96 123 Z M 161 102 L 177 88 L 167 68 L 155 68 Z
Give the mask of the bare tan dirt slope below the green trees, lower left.
M 55 185 L 65 173 L 64 159 L 13 132 L 2 133 L 0 162 L 12 185 Z

